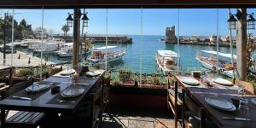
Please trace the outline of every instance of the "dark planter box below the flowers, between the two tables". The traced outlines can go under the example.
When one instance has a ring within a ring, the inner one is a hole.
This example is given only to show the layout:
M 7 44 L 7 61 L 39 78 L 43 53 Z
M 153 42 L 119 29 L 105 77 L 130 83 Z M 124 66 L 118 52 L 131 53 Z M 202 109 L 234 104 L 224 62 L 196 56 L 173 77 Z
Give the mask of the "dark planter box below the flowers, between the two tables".
M 110 108 L 132 108 L 149 111 L 167 110 L 167 90 L 129 86 L 111 86 Z

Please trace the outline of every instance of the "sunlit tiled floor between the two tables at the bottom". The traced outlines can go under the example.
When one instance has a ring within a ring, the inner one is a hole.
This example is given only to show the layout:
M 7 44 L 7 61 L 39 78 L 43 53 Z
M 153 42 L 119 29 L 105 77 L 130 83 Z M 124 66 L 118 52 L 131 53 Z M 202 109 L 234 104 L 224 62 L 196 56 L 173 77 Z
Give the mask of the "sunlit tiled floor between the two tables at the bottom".
M 117 111 L 104 113 L 103 128 L 174 128 L 174 119 L 167 113 L 150 111 Z

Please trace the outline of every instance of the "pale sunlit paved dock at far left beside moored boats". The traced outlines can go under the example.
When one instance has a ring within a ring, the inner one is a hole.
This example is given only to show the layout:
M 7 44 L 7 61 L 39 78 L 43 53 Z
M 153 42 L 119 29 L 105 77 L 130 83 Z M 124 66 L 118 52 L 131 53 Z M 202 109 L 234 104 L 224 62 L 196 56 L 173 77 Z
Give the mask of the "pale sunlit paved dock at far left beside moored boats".
M 11 66 L 11 54 L 6 54 L 6 61 L 3 64 L 3 52 L 0 52 L 0 65 Z M 51 61 L 44 61 L 43 64 L 50 65 L 55 64 Z M 13 54 L 13 67 L 36 67 L 41 65 L 41 59 L 37 56 L 28 55 L 24 52 L 17 51 Z

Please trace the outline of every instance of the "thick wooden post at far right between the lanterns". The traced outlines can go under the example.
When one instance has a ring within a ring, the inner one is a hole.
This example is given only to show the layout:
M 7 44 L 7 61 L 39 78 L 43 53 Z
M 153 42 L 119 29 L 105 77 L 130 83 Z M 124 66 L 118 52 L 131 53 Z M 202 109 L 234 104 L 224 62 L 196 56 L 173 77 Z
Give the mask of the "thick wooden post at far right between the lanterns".
M 237 9 L 240 13 L 236 23 L 236 68 L 241 80 L 247 78 L 247 9 Z

